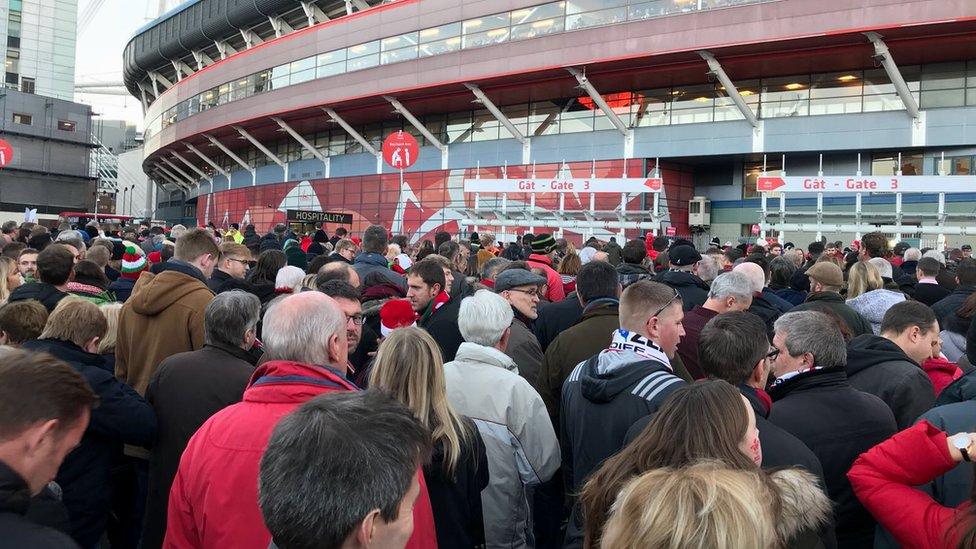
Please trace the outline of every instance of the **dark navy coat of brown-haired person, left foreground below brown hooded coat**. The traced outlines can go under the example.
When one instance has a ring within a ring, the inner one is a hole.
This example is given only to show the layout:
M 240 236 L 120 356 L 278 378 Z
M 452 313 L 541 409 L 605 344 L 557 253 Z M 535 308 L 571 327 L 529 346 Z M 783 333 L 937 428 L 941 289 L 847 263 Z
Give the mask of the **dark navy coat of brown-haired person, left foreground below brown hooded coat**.
M 71 519 L 71 537 L 82 547 L 92 547 L 108 523 L 113 456 L 122 444 L 149 446 L 156 436 L 156 415 L 131 387 L 102 368 L 100 355 L 58 339 L 25 341 L 23 348 L 67 362 L 98 395 L 98 407 L 91 412 L 81 444 L 68 454 L 55 478 Z

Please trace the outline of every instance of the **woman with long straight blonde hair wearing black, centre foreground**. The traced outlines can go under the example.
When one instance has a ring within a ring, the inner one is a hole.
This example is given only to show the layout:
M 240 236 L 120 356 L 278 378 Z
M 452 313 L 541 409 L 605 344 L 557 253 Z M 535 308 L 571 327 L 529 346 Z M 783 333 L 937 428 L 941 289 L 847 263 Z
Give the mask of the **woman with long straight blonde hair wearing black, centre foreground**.
M 424 467 L 424 480 L 438 545 L 483 546 L 481 491 L 488 486 L 488 457 L 474 423 L 447 399 L 437 343 L 419 328 L 393 330 L 376 353 L 369 386 L 409 408 L 431 433 L 434 455 Z

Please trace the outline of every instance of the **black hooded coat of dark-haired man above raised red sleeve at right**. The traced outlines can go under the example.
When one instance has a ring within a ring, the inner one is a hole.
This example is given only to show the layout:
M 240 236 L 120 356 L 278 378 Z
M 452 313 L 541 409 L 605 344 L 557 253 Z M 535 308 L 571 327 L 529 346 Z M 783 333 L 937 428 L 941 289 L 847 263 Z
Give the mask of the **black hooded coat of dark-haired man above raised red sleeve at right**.
M 925 370 L 881 336 L 863 335 L 850 342 L 847 381 L 885 401 L 899 429 L 915 423 L 935 403 L 935 390 Z

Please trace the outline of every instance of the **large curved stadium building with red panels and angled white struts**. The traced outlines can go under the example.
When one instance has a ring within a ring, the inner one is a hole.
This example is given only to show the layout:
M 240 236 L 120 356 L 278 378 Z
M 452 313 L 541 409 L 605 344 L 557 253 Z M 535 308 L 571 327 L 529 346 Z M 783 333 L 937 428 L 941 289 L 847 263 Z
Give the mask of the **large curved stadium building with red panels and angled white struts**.
M 195 0 L 124 78 L 174 222 L 956 244 L 974 36 L 972 0 Z

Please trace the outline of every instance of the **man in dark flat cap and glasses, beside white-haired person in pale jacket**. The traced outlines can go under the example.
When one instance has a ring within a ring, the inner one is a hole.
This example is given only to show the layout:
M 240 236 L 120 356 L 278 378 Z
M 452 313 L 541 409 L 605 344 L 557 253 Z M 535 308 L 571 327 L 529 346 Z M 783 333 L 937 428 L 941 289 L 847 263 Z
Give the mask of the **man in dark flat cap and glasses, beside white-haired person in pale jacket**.
M 505 354 L 518 366 L 519 375 L 538 387 L 539 368 L 542 365 L 542 346 L 532 333 L 532 323 L 539 317 L 539 289 L 546 279 L 516 263 L 507 266 L 495 277 L 495 293 L 512 306 L 515 318 L 508 338 Z

